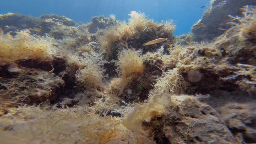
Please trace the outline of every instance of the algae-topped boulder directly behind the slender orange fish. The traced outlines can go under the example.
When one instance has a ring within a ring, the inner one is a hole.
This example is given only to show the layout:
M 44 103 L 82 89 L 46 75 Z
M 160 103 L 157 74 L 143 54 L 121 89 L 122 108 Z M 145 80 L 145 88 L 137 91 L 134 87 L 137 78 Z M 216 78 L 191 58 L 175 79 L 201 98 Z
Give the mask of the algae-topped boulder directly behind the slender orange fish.
M 153 22 L 146 18 L 144 13 L 132 11 L 128 23 L 118 21 L 116 25 L 105 28 L 97 34 L 99 49 L 106 51 L 106 59 L 117 59 L 118 52 L 125 48 L 134 48 L 142 50 L 142 53 L 156 52 L 163 45 L 168 48 L 170 43 L 174 42 L 173 31 L 175 25 L 172 21 L 162 23 Z M 158 38 L 167 38 L 168 40 L 154 45 L 143 46 L 143 43 Z M 165 49 L 165 52 L 167 50 Z

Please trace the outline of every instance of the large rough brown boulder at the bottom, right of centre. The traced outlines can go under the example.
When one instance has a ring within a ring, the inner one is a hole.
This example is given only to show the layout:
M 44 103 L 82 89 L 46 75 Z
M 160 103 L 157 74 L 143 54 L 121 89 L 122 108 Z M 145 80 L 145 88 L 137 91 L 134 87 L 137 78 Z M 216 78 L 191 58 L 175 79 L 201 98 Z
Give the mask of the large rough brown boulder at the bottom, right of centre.
M 172 96 L 171 99 L 165 116 L 143 122 L 145 129 L 154 132 L 156 143 L 238 143 L 219 119 L 217 111 L 209 105 L 188 95 Z

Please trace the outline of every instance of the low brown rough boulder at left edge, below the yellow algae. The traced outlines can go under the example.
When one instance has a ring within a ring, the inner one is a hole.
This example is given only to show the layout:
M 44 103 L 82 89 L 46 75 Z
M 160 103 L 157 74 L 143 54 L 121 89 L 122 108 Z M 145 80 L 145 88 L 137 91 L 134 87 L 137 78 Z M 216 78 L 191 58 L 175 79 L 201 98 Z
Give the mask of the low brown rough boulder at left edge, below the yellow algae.
M 64 81 L 40 69 L 27 69 L 10 65 L 9 74 L 16 75 L 12 79 L 1 81 L 1 101 L 5 106 L 24 104 L 39 104 L 55 101 L 58 93 L 65 86 Z M 3 72 L 3 71 L 2 71 Z

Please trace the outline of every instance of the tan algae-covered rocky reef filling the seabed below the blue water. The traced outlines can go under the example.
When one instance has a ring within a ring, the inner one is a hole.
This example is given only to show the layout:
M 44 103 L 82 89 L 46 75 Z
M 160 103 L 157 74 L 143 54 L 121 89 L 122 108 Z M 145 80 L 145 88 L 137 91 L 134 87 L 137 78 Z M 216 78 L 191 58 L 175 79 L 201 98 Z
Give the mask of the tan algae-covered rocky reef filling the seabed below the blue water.
M 2 143 L 256 143 L 256 7 L 240 8 L 226 31 L 205 29 L 209 43 L 135 11 L 88 24 L 1 15 Z

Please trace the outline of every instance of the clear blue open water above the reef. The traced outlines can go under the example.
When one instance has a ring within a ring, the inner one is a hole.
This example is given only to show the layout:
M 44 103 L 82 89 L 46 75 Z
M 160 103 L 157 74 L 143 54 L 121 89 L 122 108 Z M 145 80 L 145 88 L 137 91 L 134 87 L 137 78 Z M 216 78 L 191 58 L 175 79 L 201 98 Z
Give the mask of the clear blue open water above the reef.
M 42 14 L 64 15 L 76 22 L 90 22 L 91 16 L 116 15 L 127 21 L 132 11 L 144 12 L 156 22 L 173 19 L 174 35 L 188 33 L 201 18 L 208 0 L 0 0 L 0 13 L 21 13 L 39 17 Z

